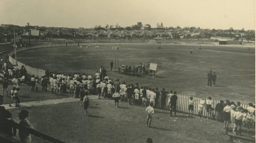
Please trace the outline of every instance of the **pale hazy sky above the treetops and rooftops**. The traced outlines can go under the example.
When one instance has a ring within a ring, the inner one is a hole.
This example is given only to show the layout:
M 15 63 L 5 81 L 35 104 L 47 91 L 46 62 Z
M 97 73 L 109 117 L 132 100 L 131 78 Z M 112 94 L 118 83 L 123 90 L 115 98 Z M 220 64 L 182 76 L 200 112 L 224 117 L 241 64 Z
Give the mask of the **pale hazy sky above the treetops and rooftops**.
M 0 0 L 0 24 L 255 29 L 254 0 Z

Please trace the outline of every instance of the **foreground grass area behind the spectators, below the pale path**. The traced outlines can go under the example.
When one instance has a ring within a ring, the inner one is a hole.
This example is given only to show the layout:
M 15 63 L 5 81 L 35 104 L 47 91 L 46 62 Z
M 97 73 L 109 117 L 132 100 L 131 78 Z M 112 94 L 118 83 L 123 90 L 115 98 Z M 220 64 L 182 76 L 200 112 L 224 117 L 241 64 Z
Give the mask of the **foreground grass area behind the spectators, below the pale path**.
M 66 143 L 145 143 L 146 138 L 152 138 L 154 143 L 224 143 L 229 140 L 223 123 L 206 118 L 189 118 L 179 113 L 178 117 L 170 117 L 166 110 L 157 109 L 152 128 L 148 128 L 145 127 L 145 107 L 121 102 L 116 108 L 114 100 L 95 99 L 88 108 L 92 116 L 87 117 L 79 105 L 77 101 L 26 110 L 36 130 Z M 10 110 L 17 122 L 20 110 Z

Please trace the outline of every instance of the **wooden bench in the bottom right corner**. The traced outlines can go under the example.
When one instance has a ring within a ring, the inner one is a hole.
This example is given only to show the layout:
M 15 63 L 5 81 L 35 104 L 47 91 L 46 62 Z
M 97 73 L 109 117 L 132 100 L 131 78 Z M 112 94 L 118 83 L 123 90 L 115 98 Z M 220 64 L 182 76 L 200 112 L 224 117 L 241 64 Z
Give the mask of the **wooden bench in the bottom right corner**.
M 252 134 L 250 134 L 252 135 Z M 230 141 L 232 141 L 232 143 L 255 143 L 255 137 L 252 138 L 248 137 L 248 136 L 239 136 L 239 135 L 235 135 L 233 132 L 228 132 L 228 136 L 230 137 Z

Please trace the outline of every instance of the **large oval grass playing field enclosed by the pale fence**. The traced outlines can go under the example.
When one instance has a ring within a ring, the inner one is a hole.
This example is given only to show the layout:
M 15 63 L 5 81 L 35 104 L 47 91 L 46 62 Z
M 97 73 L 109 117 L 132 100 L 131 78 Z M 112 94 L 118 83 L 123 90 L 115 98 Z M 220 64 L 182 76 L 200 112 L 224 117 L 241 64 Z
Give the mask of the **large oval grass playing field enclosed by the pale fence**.
M 111 46 L 119 46 L 112 50 Z M 157 47 L 161 46 L 161 49 Z M 106 44 L 99 48 L 56 47 L 18 54 L 18 60 L 32 67 L 65 73 L 86 73 L 94 76 L 100 65 L 108 76 L 127 83 L 175 90 L 178 94 L 208 97 L 215 100 L 254 101 L 254 48 L 186 45 Z M 131 51 L 128 51 L 131 48 Z M 193 54 L 189 54 L 193 48 Z M 217 55 L 216 51 L 220 54 Z M 119 65 L 158 63 L 156 78 L 132 77 L 110 72 L 110 61 L 118 57 Z M 216 87 L 207 87 L 207 72 L 217 73 Z

